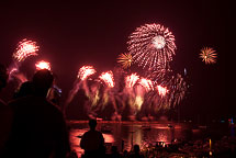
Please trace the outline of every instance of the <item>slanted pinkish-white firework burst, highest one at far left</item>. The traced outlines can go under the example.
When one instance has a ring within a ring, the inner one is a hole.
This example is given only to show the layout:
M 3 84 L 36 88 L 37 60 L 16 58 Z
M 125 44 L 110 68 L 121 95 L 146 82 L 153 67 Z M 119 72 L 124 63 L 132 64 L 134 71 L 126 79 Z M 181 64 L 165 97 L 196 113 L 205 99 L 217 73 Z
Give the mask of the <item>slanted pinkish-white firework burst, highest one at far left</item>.
M 23 61 L 29 56 L 37 56 L 38 48 L 40 46 L 36 45 L 36 42 L 24 38 L 18 44 L 16 50 L 12 57 L 18 61 Z

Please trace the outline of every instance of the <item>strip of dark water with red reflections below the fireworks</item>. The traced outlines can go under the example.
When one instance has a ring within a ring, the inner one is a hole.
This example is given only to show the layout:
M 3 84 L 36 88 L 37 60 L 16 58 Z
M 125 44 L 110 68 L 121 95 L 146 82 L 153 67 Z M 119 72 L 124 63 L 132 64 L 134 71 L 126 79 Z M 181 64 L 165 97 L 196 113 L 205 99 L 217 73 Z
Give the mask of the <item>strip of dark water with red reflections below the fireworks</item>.
M 70 142 L 72 149 L 80 157 L 83 150 L 80 148 L 80 136 L 89 129 L 87 122 L 74 122 L 70 131 Z M 171 126 L 168 126 L 171 125 Z M 158 142 L 168 146 L 172 140 L 191 140 L 204 138 L 209 136 L 221 136 L 227 134 L 227 128 L 223 132 L 221 126 L 217 129 L 200 126 L 195 128 L 191 124 L 176 123 L 141 123 L 141 122 L 103 122 L 98 123 L 97 129 L 103 133 L 105 139 L 106 151 L 110 151 L 112 145 L 117 146 L 119 150 L 131 150 L 132 146 L 138 144 L 141 148 L 148 144 Z M 221 128 L 221 131 L 218 131 Z

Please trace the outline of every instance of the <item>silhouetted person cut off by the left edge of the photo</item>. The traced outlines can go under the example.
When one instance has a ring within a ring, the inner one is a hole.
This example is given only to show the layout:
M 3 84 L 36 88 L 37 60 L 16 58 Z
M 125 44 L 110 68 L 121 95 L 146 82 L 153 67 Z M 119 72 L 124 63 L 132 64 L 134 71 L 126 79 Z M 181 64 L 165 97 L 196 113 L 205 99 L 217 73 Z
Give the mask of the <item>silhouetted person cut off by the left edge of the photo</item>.
M 7 68 L 0 64 L 0 91 L 7 86 Z M 9 138 L 12 119 L 11 109 L 0 99 L 0 157 L 2 157 L 5 142 Z

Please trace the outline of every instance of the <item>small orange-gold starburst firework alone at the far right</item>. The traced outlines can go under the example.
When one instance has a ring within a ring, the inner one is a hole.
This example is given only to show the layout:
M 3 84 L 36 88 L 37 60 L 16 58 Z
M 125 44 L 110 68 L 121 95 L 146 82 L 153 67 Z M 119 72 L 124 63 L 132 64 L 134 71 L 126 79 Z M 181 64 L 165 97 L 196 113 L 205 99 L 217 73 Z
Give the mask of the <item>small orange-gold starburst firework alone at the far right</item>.
M 217 57 L 217 54 L 213 48 L 204 47 L 201 49 L 200 58 L 202 58 L 202 61 L 205 61 L 205 64 L 216 63 L 216 57 Z

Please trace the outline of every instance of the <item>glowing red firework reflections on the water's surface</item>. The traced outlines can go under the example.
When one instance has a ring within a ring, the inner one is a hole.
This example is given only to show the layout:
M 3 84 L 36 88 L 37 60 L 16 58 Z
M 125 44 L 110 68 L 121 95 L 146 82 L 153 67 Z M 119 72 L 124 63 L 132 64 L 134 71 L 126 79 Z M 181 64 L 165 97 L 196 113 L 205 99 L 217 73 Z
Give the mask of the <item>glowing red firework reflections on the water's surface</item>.
M 80 137 L 87 132 L 87 123 L 77 124 L 76 127 L 70 129 L 70 142 L 72 149 L 77 151 L 80 157 L 83 150 L 80 148 Z M 99 123 L 98 131 L 103 132 L 103 137 L 106 144 L 106 151 L 110 151 L 112 145 L 117 146 L 122 150 L 122 142 L 124 143 L 123 150 L 131 150 L 132 145 L 138 144 L 143 148 L 147 144 L 162 142 L 170 144 L 175 138 L 188 138 L 189 133 L 186 133 L 183 126 L 176 128 L 168 127 L 167 124 L 122 124 L 122 123 Z

